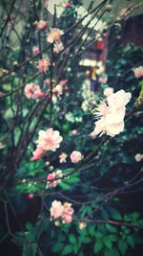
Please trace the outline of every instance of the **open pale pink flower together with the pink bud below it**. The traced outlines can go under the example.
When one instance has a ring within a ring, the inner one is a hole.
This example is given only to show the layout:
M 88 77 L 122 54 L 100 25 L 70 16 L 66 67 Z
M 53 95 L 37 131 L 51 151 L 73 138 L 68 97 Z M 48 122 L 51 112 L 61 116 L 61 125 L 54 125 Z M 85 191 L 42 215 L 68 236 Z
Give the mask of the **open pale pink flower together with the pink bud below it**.
M 43 156 L 45 151 L 56 151 L 60 147 L 60 143 L 63 138 L 60 136 L 58 130 L 53 130 L 53 128 L 48 128 L 45 130 L 40 130 L 38 132 L 39 137 L 37 140 L 37 148 L 32 152 L 33 156 L 31 160 L 37 160 Z

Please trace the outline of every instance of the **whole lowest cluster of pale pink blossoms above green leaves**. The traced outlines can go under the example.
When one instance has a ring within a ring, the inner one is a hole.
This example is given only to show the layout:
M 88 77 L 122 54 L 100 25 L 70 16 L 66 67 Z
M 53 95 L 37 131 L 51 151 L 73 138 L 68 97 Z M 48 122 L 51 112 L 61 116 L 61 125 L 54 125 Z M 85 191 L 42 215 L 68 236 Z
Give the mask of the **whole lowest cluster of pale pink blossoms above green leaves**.
M 54 200 L 51 203 L 51 220 L 55 221 L 55 224 L 59 224 L 59 221 L 63 223 L 70 223 L 72 222 L 72 215 L 74 210 L 72 208 L 72 203 L 64 202 L 63 204 L 61 201 Z

